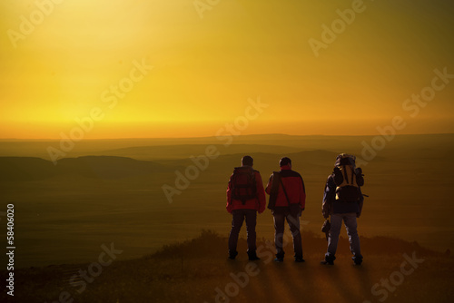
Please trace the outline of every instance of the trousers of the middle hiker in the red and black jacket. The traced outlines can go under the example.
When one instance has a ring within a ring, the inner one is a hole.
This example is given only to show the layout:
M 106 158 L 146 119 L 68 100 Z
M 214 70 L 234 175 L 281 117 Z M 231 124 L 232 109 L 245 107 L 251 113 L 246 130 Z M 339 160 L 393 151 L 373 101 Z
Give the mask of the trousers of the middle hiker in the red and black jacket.
M 291 237 L 293 238 L 293 250 L 295 252 L 295 259 L 302 259 L 302 245 L 301 245 L 301 232 L 300 232 L 300 216 L 293 217 L 290 211 L 274 212 L 274 245 L 276 246 L 276 258 L 283 259 L 284 250 L 283 234 L 285 228 L 285 220 L 289 223 L 291 230 Z

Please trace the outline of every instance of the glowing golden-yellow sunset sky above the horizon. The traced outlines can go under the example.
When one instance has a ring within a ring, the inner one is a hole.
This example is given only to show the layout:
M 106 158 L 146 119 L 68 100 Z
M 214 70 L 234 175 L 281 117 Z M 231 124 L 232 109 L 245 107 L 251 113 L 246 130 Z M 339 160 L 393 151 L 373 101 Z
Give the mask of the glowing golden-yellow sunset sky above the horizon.
M 454 132 L 450 1 L 54 1 L 0 3 L 0 138 Z

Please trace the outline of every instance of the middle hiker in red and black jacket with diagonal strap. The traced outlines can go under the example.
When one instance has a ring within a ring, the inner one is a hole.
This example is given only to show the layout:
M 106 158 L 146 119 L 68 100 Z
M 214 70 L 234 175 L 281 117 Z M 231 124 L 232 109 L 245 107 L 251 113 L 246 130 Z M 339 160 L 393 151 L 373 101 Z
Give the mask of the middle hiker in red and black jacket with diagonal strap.
M 300 232 L 301 211 L 306 203 L 306 191 L 301 175 L 291 170 L 291 159 L 284 157 L 279 161 L 281 171 L 273 171 L 266 186 L 266 193 L 270 195 L 268 208 L 274 218 L 274 245 L 276 246 L 276 262 L 284 258 L 283 233 L 285 220 L 289 224 L 293 238 L 295 262 L 304 262 L 302 259 L 302 245 Z

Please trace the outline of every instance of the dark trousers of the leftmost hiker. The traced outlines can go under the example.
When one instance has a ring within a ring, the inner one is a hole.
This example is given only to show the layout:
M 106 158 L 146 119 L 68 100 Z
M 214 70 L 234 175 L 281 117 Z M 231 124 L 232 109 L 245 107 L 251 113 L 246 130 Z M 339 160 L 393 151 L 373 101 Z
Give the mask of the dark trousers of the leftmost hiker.
M 248 241 L 248 254 L 255 254 L 256 234 L 255 225 L 257 224 L 257 210 L 232 210 L 232 230 L 229 236 L 229 254 L 232 256 L 236 253 L 238 244 L 238 235 L 242 229 L 242 222 L 246 219 L 246 231 Z

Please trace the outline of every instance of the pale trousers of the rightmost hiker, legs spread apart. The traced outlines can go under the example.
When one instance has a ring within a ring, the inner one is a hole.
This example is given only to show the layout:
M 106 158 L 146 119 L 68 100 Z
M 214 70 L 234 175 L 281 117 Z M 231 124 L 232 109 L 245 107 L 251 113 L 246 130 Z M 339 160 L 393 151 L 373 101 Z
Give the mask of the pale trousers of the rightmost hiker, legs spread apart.
M 339 234 L 341 233 L 342 220 L 345 223 L 347 235 L 349 236 L 350 251 L 353 254 L 353 260 L 362 259 L 360 250 L 360 237 L 357 231 L 356 213 L 336 213 L 331 215 L 331 230 L 328 238 L 328 251 L 325 259 L 336 259 L 336 249 L 338 248 Z

